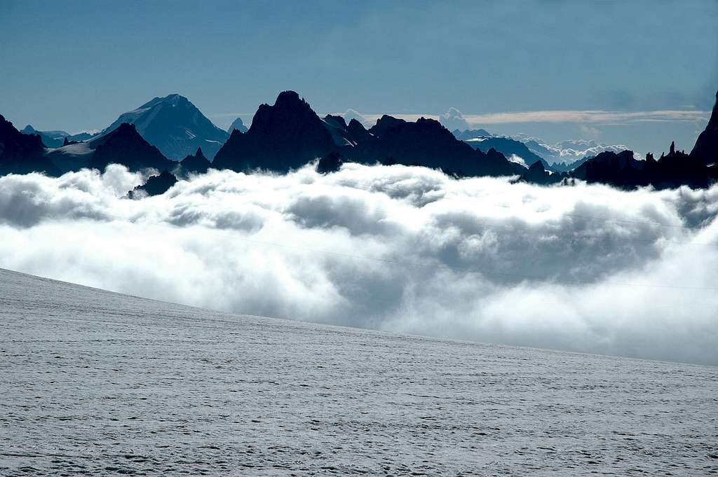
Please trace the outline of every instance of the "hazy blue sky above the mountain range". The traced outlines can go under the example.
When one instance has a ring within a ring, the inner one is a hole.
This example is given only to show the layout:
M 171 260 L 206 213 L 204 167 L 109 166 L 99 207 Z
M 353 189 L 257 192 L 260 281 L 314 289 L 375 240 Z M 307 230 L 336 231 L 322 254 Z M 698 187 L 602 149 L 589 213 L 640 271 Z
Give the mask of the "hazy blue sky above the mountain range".
M 718 89 L 716 25 L 712 0 L 0 0 L 0 113 L 76 132 L 181 93 L 228 126 L 293 89 L 320 113 L 454 107 L 494 133 L 690 149 Z

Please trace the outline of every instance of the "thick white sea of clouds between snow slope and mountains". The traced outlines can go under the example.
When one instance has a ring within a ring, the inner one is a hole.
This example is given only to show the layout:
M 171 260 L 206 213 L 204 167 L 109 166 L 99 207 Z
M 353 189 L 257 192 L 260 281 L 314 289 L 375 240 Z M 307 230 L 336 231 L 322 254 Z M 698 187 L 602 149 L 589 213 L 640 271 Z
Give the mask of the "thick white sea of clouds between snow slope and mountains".
M 0 178 L 0 267 L 221 311 L 718 364 L 718 186 L 622 192 L 345 164 Z

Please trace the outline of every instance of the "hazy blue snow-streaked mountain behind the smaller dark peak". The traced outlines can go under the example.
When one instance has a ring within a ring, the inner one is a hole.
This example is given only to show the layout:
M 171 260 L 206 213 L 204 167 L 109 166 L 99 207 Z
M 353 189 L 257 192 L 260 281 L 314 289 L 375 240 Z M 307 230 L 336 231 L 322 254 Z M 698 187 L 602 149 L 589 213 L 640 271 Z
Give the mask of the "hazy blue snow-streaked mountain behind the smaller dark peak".
M 121 114 L 102 133 L 110 133 L 123 123 L 134 124 L 147 142 L 174 161 L 180 161 L 200 147 L 211 159 L 229 137 L 190 100 L 178 94 L 154 98 L 135 110 Z

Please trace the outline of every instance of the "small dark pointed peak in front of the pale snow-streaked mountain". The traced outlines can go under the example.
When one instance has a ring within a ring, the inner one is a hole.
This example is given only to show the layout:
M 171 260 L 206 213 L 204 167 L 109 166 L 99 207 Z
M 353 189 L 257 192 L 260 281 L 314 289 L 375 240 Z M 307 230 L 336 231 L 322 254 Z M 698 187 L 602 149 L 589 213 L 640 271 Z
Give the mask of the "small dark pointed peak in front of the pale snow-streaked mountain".
M 108 164 L 122 164 L 131 171 L 147 168 L 164 171 L 177 166 L 176 162 L 164 157 L 159 149 L 145 141 L 134 124 L 128 123 L 122 123 L 95 142 L 95 151 L 88 166 L 104 171 Z

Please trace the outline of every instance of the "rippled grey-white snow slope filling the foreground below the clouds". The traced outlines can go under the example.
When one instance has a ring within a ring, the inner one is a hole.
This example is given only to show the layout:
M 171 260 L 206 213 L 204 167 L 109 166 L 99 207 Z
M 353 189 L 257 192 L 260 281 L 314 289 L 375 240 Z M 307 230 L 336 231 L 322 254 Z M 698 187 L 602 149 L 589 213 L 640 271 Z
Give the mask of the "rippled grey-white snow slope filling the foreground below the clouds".
M 715 367 L 236 316 L 6 270 L 0 323 L 1 475 L 718 472 Z

